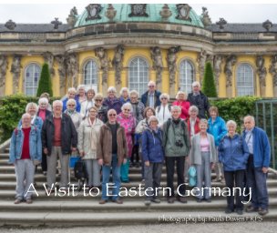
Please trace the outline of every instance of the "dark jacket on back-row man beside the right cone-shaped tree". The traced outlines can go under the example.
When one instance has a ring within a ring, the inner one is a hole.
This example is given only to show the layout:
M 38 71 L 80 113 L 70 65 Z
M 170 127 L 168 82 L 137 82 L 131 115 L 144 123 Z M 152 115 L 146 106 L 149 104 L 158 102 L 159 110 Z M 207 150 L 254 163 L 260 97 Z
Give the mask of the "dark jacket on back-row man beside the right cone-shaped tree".
M 188 101 L 190 101 L 190 106 L 197 106 L 199 109 L 198 117 L 201 118 L 208 118 L 209 117 L 209 100 L 208 97 L 205 96 L 202 92 L 200 92 L 200 95 L 193 96 L 193 93 L 190 93 L 188 95 Z M 205 113 L 207 112 L 207 117 L 205 116 Z

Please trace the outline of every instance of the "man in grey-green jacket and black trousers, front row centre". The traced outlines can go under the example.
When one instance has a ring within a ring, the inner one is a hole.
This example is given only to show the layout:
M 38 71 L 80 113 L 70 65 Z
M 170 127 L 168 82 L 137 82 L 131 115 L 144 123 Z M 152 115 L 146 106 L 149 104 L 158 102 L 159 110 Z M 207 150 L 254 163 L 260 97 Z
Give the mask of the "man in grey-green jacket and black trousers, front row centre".
M 187 203 L 184 197 L 186 186 L 184 181 L 185 157 L 190 153 L 190 135 L 187 124 L 180 118 L 180 106 L 171 107 L 172 119 L 168 119 L 163 124 L 163 147 L 165 149 L 166 167 L 167 167 L 167 187 L 168 202 L 174 202 L 173 177 L 175 163 L 178 176 L 178 200 L 181 203 Z

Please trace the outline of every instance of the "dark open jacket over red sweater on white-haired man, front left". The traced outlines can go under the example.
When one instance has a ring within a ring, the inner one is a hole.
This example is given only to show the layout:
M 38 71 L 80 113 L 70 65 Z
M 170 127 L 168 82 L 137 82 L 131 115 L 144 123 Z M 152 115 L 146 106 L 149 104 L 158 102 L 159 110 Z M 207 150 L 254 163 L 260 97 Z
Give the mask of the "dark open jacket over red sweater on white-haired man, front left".
M 55 134 L 55 127 L 53 122 L 53 116 L 46 117 L 41 130 L 42 147 L 47 148 L 48 156 L 51 155 L 52 144 Z M 77 147 L 77 131 L 71 120 L 71 117 L 66 114 L 62 115 L 61 126 L 61 147 L 63 155 L 71 153 L 71 147 Z

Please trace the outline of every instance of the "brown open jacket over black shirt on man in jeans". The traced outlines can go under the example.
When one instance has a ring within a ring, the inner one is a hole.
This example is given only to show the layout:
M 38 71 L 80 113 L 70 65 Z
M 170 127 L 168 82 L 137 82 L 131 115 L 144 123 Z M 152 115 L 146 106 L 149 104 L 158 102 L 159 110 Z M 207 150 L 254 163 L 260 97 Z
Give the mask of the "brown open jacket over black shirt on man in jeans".
M 118 123 L 117 123 L 118 124 Z M 118 142 L 118 166 L 123 163 L 124 158 L 128 156 L 127 142 L 125 136 L 124 127 L 120 127 L 118 124 L 117 131 L 117 142 Z M 108 127 L 108 124 L 105 124 L 100 128 L 100 136 L 97 145 L 97 159 L 102 158 L 103 164 L 110 166 L 111 157 L 112 157 L 112 134 L 111 130 Z

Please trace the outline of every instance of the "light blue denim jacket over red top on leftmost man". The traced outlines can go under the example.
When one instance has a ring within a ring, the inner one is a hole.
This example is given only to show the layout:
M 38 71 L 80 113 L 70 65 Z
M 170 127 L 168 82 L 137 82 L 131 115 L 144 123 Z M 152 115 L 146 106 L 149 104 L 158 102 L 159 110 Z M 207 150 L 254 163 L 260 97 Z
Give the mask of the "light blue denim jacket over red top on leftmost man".
M 9 164 L 14 164 L 16 159 L 20 159 L 22 155 L 22 147 L 24 142 L 24 132 L 21 127 L 15 128 L 10 144 L 10 157 Z M 40 130 L 36 127 L 31 127 L 30 131 L 30 157 L 31 160 L 41 161 L 42 157 L 42 146 L 41 146 L 41 135 Z

